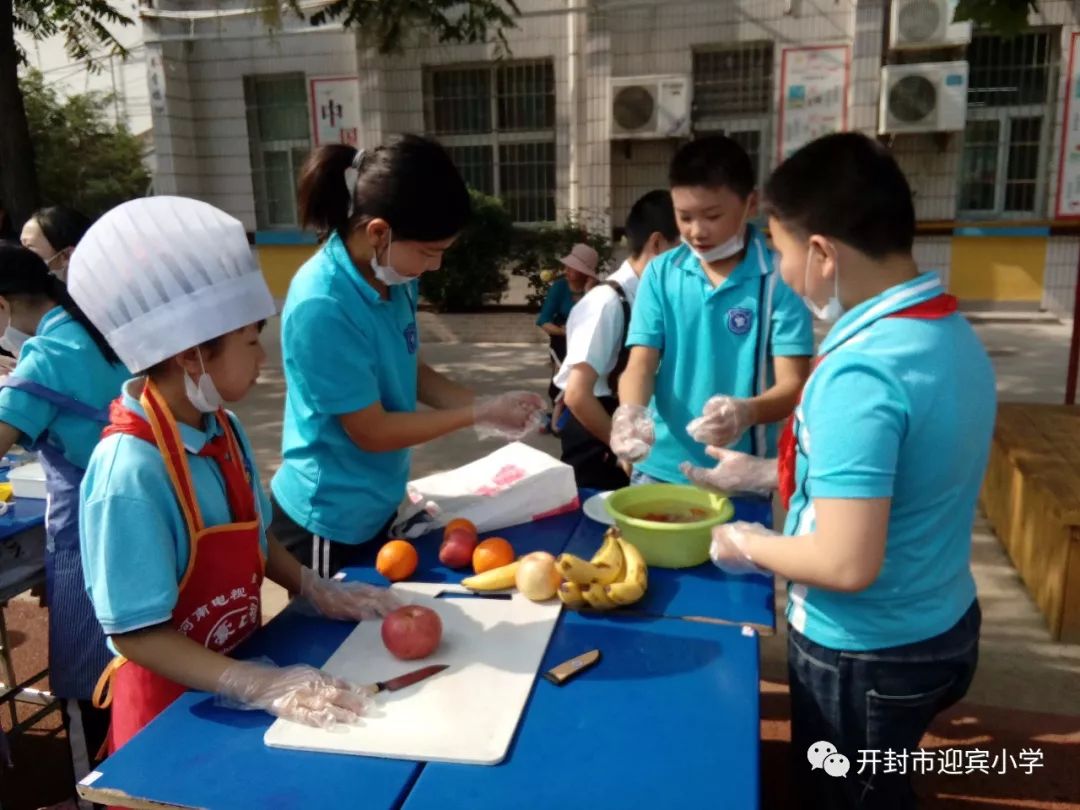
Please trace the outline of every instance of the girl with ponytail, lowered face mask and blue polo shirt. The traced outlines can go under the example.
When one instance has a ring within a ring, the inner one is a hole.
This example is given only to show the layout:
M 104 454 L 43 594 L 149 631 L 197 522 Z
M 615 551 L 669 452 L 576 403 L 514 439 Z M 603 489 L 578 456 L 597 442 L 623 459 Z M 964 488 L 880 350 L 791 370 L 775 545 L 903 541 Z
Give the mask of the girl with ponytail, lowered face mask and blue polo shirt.
M 282 312 L 273 529 L 330 576 L 361 544 L 386 538 L 411 447 L 470 427 L 521 438 L 539 428 L 544 402 L 519 391 L 477 396 L 420 355 L 417 280 L 438 270 L 470 217 L 443 147 L 415 135 L 372 150 L 322 147 L 301 172 L 299 211 L 323 245 Z

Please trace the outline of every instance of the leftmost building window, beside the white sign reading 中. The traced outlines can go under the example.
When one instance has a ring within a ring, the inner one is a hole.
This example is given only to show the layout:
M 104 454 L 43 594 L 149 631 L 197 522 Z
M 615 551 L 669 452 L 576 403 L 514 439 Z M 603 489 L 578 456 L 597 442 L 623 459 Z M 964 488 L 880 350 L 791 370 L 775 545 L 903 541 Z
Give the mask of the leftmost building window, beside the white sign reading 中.
M 247 138 L 260 229 L 295 228 L 296 181 L 311 149 L 303 73 L 244 77 Z

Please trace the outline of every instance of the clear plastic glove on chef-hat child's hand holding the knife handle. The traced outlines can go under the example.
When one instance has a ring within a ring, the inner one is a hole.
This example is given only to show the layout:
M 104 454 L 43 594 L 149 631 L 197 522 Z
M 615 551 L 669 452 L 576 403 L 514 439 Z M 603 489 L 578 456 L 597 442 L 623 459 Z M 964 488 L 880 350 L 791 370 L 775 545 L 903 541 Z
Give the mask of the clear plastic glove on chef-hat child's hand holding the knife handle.
M 260 708 L 318 728 L 354 726 L 374 701 L 354 686 L 313 666 L 274 666 L 237 661 L 221 673 L 217 693 L 234 708 Z

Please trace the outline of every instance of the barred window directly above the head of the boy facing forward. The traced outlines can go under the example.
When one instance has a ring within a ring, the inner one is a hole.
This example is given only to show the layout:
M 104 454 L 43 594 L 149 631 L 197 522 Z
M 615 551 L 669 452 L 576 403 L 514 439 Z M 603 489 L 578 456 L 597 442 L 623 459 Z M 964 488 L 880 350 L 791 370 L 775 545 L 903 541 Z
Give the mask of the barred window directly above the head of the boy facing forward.
M 772 43 L 746 42 L 693 53 L 693 130 L 724 133 L 750 154 L 758 185 L 769 171 Z

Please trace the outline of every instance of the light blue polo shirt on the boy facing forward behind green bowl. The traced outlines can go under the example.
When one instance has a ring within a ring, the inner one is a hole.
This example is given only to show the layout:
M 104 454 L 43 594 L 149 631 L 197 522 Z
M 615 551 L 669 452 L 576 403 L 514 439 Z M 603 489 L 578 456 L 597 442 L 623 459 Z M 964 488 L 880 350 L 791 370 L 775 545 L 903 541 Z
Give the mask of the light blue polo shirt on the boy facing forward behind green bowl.
M 718 287 L 686 245 L 649 262 L 638 287 L 626 345 L 659 349 L 661 360 L 651 402 L 657 443 L 636 467 L 660 481 L 686 483 L 684 461 L 716 463 L 686 432 L 710 397 L 756 396 L 773 384 L 772 357 L 813 354 L 809 310 L 780 278 L 761 234 L 753 226 L 748 233 L 745 257 Z M 777 433 L 758 426 L 733 449 L 774 454 Z

